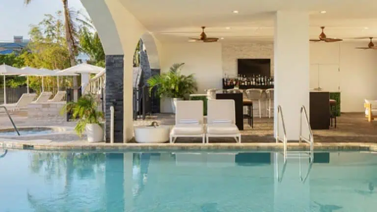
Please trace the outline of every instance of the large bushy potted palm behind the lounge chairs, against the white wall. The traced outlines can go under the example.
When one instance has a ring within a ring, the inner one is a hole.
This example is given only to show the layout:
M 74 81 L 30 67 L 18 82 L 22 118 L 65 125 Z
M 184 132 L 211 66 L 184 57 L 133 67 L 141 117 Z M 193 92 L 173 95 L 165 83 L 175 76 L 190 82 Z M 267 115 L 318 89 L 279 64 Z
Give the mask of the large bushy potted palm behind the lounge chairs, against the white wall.
M 148 79 L 149 93 L 156 87 L 156 95 L 160 98 L 171 98 L 171 106 L 175 113 L 177 101 L 183 100 L 185 95 L 194 93 L 198 88 L 193 74 L 182 75 L 181 67 L 185 63 L 173 64 L 169 71 Z

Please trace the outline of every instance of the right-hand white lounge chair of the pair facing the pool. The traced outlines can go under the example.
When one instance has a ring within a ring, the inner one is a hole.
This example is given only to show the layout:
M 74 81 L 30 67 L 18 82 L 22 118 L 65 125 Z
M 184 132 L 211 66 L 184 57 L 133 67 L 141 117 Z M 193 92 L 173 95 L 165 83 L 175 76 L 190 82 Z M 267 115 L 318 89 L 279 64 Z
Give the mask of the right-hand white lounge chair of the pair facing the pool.
M 234 100 L 208 100 L 207 104 L 207 143 L 209 137 L 234 137 L 236 142 L 241 143 L 241 133 L 235 124 Z

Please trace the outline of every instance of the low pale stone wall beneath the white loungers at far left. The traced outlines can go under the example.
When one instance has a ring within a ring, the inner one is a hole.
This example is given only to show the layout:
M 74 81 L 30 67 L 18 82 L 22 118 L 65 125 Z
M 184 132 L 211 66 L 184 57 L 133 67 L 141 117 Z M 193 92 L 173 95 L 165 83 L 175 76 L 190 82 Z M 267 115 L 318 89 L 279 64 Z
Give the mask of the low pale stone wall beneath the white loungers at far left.
M 28 118 L 63 117 L 60 115 L 61 108 L 65 102 L 61 103 L 32 103 L 27 106 Z

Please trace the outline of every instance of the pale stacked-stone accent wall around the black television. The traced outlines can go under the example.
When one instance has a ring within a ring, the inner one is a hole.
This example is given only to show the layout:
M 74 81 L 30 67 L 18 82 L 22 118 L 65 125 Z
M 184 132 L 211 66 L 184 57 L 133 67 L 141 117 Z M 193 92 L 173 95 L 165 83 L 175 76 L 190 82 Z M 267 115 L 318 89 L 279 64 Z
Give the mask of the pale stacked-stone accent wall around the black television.
M 273 43 L 223 43 L 222 70 L 227 76 L 237 76 L 237 59 L 271 59 L 271 76 L 273 76 Z

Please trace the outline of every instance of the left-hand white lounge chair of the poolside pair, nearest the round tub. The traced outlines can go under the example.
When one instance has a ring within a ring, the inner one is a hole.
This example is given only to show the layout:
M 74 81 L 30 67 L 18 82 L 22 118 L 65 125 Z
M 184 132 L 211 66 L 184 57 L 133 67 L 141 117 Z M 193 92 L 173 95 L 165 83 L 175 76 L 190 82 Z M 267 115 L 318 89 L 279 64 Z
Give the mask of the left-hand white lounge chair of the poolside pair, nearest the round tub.
M 178 101 L 170 143 L 174 143 L 177 137 L 202 137 L 205 143 L 203 120 L 203 101 Z

